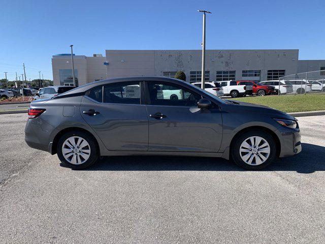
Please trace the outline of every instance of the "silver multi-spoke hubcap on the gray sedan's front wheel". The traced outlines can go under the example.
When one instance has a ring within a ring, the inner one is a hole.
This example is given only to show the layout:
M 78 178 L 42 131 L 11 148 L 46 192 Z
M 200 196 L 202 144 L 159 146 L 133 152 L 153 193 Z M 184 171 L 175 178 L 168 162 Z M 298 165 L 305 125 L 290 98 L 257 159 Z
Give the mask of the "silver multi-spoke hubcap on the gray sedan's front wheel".
M 263 164 L 270 156 L 270 145 L 263 137 L 251 136 L 239 148 L 241 159 L 249 165 Z

